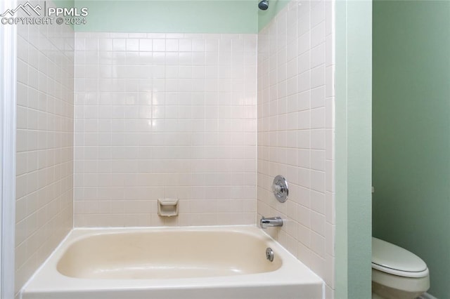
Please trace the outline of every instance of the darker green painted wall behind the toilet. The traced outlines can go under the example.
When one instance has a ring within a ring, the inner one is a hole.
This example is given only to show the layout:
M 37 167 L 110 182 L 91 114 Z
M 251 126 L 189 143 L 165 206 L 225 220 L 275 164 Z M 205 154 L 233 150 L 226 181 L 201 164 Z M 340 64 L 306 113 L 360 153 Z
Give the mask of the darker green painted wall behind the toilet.
M 373 235 L 450 294 L 450 1 L 373 3 Z

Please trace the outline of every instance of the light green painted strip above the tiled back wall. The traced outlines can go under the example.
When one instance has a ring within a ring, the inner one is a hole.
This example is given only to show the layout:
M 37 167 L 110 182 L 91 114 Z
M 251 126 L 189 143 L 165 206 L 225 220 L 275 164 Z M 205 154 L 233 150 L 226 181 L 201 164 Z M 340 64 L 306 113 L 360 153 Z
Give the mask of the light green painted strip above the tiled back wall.
M 257 33 L 257 0 L 75 0 L 86 7 L 76 31 Z

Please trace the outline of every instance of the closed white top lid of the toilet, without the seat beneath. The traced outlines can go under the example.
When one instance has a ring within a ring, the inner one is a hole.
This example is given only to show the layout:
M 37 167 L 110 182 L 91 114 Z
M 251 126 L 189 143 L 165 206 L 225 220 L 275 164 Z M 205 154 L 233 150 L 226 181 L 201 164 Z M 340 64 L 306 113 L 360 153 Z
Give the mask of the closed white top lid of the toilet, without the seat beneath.
M 423 272 L 427 264 L 414 253 L 372 237 L 372 263 L 401 272 Z

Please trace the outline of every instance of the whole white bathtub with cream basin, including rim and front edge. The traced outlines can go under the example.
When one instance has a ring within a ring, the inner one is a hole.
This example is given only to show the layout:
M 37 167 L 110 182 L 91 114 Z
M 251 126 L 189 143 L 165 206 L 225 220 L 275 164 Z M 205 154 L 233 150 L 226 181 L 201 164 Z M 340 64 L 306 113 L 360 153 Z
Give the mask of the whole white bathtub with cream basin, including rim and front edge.
M 312 299 L 323 281 L 254 226 L 75 229 L 21 296 Z

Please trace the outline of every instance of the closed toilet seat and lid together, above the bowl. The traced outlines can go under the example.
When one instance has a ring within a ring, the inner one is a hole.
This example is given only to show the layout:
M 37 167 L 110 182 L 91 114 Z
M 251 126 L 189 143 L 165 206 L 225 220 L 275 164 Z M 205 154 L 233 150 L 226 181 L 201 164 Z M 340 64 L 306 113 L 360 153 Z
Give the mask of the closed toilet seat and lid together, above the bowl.
M 414 253 L 372 237 L 373 269 L 400 277 L 420 278 L 429 274 L 425 262 Z

